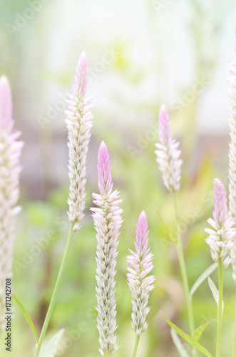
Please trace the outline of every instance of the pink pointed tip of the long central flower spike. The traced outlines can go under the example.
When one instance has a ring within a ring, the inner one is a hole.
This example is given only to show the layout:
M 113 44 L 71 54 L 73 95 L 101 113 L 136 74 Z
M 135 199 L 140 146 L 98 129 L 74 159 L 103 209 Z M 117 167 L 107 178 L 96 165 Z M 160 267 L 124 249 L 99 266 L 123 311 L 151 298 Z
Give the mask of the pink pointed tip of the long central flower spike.
M 101 196 L 106 196 L 113 188 L 110 157 L 104 141 L 101 142 L 98 149 L 98 188 Z

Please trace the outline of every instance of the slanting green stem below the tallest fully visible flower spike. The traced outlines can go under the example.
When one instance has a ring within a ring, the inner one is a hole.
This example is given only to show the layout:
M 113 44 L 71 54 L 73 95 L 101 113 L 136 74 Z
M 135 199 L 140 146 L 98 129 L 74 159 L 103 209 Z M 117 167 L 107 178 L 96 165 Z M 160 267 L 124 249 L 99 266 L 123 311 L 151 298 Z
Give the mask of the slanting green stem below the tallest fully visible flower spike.
M 55 287 L 54 287 L 54 290 L 53 290 L 53 295 L 51 296 L 51 301 L 50 301 L 50 304 L 49 304 L 49 307 L 48 307 L 48 312 L 46 313 L 46 318 L 45 318 L 44 323 L 43 323 L 43 328 L 42 328 L 41 334 L 39 336 L 39 343 L 37 344 L 36 351 L 34 353 L 34 357 L 38 357 L 39 356 L 39 352 L 41 350 L 43 339 L 45 337 L 45 334 L 46 334 L 46 331 L 47 331 L 47 328 L 48 328 L 48 323 L 50 321 L 51 314 L 53 312 L 53 308 L 54 308 L 54 305 L 56 303 L 56 296 L 57 296 L 57 293 L 58 293 L 58 288 L 59 288 L 60 283 L 61 283 L 61 278 L 63 276 L 63 271 L 64 271 L 65 266 L 66 266 L 66 259 L 68 257 L 68 251 L 69 251 L 69 248 L 70 248 L 70 245 L 71 245 L 72 237 L 73 237 L 73 224 L 71 224 L 71 228 L 70 228 L 70 231 L 68 233 L 68 238 L 67 238 L 67 242 L 66 242 L 66 248 L 65 248 L 65 251 L 64 251 L 64 254 L 63 254 L 63 258 L 62 258 L 62 261 L 61 261 L 60 270 L 58 272 L 58 277 L 56 279 L 56 284 L 55 284 Z

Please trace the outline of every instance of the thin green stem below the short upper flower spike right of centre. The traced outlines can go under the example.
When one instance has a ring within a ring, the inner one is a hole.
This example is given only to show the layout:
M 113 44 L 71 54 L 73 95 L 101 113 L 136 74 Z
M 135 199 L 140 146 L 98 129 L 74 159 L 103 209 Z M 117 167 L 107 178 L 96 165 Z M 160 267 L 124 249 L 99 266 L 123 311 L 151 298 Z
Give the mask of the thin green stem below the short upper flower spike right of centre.
M 177 208 L 177 202 L 176 202 L 176 197 L 175 197 L 175 192 L 172 191 L 172 198 L 173 198 L 173 204 L 175 208 L 175 218 L 176 218 L 176 230 L 177 230 L 177 251 L 178 251 L 178 259 L 180 262 L 180 271 L 181 271 L 181 276 L 182 276 L 182 281 L 183 281 L 183 289 L 185 292 L 185 301 L 187 304 L 187 310 L 188 310 L 188 321 L 189 321 L 189 326 L 190 326 L 190 333 L 191 336 L 193 336 L 193 333 L 195 331 L 194 327 L 194 319 L 193 319 L 193 305 L 192 301 L 190 300 L 190 289 L 188 285 L 188 275 L 186 271 L 186 265 L 185 265 L 185 257 L 183 253 L 183 245 L 182 245 L 182 240 L 180 236 L 180 217 L 178 215 L 178 208 Z

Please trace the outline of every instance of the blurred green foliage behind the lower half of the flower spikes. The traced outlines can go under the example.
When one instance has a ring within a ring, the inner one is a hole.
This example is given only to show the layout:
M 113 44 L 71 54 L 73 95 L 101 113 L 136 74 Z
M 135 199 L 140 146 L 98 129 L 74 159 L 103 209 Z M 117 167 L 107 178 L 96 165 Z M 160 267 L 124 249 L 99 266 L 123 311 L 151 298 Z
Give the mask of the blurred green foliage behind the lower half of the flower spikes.
M 130 356 L 133 348 L 133 331 L 130 326 L 130 291 L 126 284 L 126 261 L 128 248 L 133 248 L 135 223 L 138 214 L 144 209 L 150 228 L 150 246 L 155 254 L 154 273 L 157 287 L 150 294 L 150 326 L 141 338 L 139 356 L 168 356 L 175 351 L 170 342 L 169 328 L 160 317 L 161 309 L 168 318 L 188 331 L 183 291 L 180 283 L 178 260 L 173 243 L 163 228 L 156 207 L 165 221 L 175 229 L 175 219 L 170 196 L 165 191 L 155 164 L 154 144 L 135 156 L 128 155 L 127 148 L 120 145 L 122 138 L 116 138 L 116 128 L 103 127 L 98 134 L 105 139 L 111 152 L 111 169 L 115 186 L 123 198 L 124 223 L 120 234 L 117 266 L 117 356 Z M 225 153 L 226 162 L 226 153 Z M 188 161 L 183 166 L 182 190 L 178 194 L 180 218 L 183 228 L 186 263 L 190 286 L 207 266 L 212 263 L 210 250 L 205 244 L 206 219 L 212 210 L 212 178 L 220 172 L 214 169 L 212 158 L 203 156 L 197 165 L 195 177 L 185 174 Z M 96 173 L 94 173 L 96 175 Z M 88 191 L 98 191 L 96 186 Z M 40 331 L 56 280 L 63 247 L 68 233 L 67 209 L 68 186 L 52 191 L 47 201 L 27 201 L 22 198 L 23 212 L 17 227 L 14 256 L 14 293 L 24 304 L 29 316 Z M 91 205 L 91 201 L 89 201 Z M 89 208 L 89 207 L 88 207 Z M 46 246 L 46 248 L 41 248 Z M 66 271 L 63 276 L 58 300 L 48 330 L 47 337 L 65 327 L 58 356 L 98 356 L 98 333 L 96 331 L 96 296 L 94 254 L 96 236 L 89 211 L 83 220 L 81 230 L 73 238 Z M 217 282 L 216 273 L 212 278 Z M 230 353 L 228 336 L 232 334 L 232 309 L 234 289 L 231 269 L 225 272 L 225 314 L 222 348 Z M 207 282 L 193 297 L 195 324 L 210 322 L 200 342 L 210 351 L 215 348 L 216 305 Z M 14 319 L 14 351 L 18 356 L 32 353 L 34 336 L 29 331 L 24 316 L 16 308 Z M 23 338 L 24 336 L 24 338 Z M 74 341 L 75 340 L 75 341 Z M 224 343 L 225 341 L 225 343 Z M 63 347 L 63 346 L 68 346 Z M 21 353 L 21 354 L 20 354 Z M 5 356 L 4 354 L 1 356 Z

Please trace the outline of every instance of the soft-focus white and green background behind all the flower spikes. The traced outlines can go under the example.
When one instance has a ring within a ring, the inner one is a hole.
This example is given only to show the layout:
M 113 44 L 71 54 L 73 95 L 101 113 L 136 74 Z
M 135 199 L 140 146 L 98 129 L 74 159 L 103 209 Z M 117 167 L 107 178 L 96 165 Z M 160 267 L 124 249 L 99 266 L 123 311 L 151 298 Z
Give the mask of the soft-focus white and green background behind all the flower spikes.
M 96 357 L 96 236 L 89 208 L 98 192 L 96 155 L 101 140 L 111 154 L 116 188 L 123 198 L 117 273 L 116 356 L 130 356 L 128 248 L 143 209 L 155 253 L 157 287 L 150 294 L 150 324 L 138 356 L 178 356 L 162 310 L 188 332 L 175 247 L 158 218 L 174 229 L 170 195 L 155 162 L 160 105 L 170 110 L 183 151 L 178 193 L 190 286 L 212 263 L 204 228 L 212 211 L 212 179 L 227 185 L 227 66 L 234 59 L 234 0 L 9 0 L 0 1 L 0 75 L 9 77 L 16 129 L 25 141 L 22 213 L 16 229 L 14 293 L 40 331 L 68 233 L 68 149 L 64 96 L 86 50 L 88 95 L 94 96 L 88 153 L 86 218 L 73 238 L 66 273 L 47 338 L 65 327 L 57 356 Z M 230 356 L 234 286 L 225 271 L 222 356 Z M 217 283 L 217 275 L 212 274 Z M 207 283 L 193 298 L 195 324 L 210 322 L 200 343 L 215 353 L 216 313 Z M 33 356 L 34 336 L 15 307 L 12 356 Z M 199 353 L 200 354 L 200 353 Z M 1 356 L 8 356 L 1 346 Z

